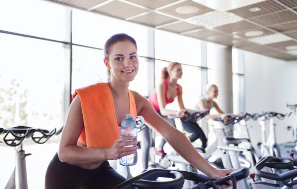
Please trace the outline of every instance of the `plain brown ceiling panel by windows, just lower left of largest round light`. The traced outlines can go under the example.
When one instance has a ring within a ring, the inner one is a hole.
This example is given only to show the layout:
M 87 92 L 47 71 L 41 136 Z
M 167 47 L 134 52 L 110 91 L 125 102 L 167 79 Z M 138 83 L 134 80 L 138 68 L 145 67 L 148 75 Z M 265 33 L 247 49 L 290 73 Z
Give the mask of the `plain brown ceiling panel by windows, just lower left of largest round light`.
M 137 18 L 133 18 L 130 21 L 136 22 L 139 24 L 144 24 L 144 25 L 151 26 L 151 27 L 155 27 L 155 26 L 167 24 L 170 22 L 174 22 L 177 20 L 174 18 L 170 18 L 168 16 L 164 16 L 164 15 L 161 15 L 161 14 L 158 14 L 155 12 L 151 12 L 146 15 L 143 15 L 143 16 L 140 16 Z

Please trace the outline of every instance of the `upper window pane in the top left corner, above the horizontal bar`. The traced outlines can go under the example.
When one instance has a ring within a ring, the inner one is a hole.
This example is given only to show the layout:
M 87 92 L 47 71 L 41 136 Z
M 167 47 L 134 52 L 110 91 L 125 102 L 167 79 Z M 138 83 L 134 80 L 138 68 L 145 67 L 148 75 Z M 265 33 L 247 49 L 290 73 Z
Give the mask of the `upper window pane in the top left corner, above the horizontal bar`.
M 1 0 L 0 30 L 65 41 L 65 8 L 42 0 Z

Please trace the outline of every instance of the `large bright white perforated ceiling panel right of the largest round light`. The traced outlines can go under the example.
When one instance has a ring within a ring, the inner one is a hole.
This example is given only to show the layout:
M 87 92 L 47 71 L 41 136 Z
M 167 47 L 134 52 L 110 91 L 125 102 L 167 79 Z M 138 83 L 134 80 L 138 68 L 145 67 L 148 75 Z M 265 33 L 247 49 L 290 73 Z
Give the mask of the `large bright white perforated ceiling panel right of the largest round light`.
M 242 17 L 237 16 L 232 12 L 211 11 L 198 15 L 195 18 L 191 18 L 187 20 L 187 22 L 203 26 L 204 28 L 215 28 L 217 26 L 232 24 L 242 20 Z

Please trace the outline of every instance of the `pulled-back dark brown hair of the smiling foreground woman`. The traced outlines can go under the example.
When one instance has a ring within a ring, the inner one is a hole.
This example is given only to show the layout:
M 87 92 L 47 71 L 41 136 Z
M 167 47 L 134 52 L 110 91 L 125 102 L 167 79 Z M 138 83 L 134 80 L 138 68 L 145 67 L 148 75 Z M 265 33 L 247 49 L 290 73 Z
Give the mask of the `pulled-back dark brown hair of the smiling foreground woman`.
M 110 53 L 110 48 L 112 45 L 114 45 L 117 42 L 124 42 L 124 41 L 130 41 L 135 45 L 137 49 L 137 44 L 135 39 L 129 36 L 128 34 L 124 34 L 124 33 L 114 34 L 104 44 L 104 48 L 103 48 L 104 58 L 108 60 L 108 55 Z M 110 76 L 111 76 L 109 69 L 107 69 L 106 74 L 107 74 L 107 81 L 108 81 L 110 80 Z

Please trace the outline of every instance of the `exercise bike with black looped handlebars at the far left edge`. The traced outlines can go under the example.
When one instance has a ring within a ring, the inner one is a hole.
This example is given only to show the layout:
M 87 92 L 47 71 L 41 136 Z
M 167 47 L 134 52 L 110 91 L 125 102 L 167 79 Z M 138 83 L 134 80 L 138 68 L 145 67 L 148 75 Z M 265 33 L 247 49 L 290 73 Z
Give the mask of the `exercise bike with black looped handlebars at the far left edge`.
M 24 139 L 31 138 L 34 142 L 43 144 L 53 135 L 58 135 L 62 128 L 58 131 L 52 131 L 26 126 L 17 126 L 13 128 L 0 128 L 0 135 L 4 135 L 3 142 L 15 149 L 15 168 L 6 184 L 5 189 L 28 189 L 26 157 L 32 155 L 25 153 L 23 149 Z

